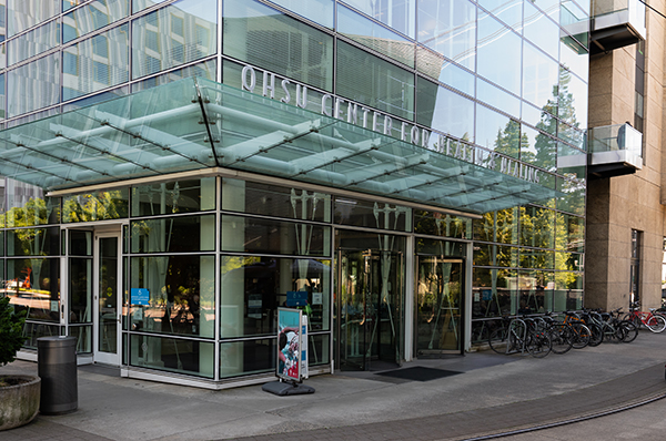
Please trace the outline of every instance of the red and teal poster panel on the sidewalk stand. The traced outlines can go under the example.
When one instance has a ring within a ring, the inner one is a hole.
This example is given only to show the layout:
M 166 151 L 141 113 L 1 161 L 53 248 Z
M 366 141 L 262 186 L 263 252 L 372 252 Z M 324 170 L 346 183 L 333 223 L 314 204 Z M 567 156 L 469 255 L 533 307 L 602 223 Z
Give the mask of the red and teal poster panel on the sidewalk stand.
M 301 322 L 299 309 L 278 308 L 278 377 L 301 381 Z

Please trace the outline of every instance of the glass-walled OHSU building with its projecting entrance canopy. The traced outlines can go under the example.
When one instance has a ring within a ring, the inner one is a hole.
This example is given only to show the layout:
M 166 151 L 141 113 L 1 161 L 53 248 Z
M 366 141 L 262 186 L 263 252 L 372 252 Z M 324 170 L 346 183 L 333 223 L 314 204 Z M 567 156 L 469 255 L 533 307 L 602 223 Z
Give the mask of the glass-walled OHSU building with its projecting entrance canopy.
M 272 377 L 290 293 L 311 373 L 582 306 L 588 2 L 0 4 L 23 357 L 222 388 Z

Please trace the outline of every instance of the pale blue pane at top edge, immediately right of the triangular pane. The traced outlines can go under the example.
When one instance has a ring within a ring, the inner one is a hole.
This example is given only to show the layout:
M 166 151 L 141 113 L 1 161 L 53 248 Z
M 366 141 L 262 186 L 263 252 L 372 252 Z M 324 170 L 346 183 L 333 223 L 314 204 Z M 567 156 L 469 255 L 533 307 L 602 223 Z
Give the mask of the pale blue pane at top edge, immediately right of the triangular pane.
M 421 0 L 418 42 L 474 70 L 476 7 L 467 0 Z

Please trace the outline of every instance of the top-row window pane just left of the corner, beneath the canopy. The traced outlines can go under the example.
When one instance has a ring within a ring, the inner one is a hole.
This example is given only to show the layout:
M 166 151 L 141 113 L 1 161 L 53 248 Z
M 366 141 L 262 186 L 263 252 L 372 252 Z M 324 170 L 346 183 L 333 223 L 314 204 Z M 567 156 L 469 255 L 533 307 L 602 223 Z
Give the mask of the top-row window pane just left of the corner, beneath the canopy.
M 132 216 L 194 213 L 214 208 L 214 177 L 132 187 Z

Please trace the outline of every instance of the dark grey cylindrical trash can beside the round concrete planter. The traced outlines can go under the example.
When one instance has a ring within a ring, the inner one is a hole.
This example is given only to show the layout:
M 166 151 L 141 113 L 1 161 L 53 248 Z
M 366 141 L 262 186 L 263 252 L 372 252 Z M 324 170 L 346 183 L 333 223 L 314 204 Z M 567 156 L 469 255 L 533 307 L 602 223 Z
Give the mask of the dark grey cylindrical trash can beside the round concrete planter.
M 38 338 L 37 365 L 38 375 L 42 380 L 39 411 L 43 414 L 61 414 L 77 410 L 77 338 Z

